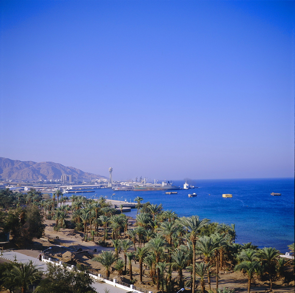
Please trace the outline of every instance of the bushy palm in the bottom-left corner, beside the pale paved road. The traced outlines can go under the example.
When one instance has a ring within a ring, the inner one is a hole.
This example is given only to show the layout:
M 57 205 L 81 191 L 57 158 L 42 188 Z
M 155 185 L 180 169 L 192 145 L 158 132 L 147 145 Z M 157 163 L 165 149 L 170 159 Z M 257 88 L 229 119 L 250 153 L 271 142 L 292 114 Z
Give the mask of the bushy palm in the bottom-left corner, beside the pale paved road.
M 8 272 L 7 278 L 21 288 L 22 293 L 29 289 L 29 285 L 34 284 L 42 277 L 42 271 L 38 270 L 32 261 L 23 264 L 14 263 L 11 271 Z

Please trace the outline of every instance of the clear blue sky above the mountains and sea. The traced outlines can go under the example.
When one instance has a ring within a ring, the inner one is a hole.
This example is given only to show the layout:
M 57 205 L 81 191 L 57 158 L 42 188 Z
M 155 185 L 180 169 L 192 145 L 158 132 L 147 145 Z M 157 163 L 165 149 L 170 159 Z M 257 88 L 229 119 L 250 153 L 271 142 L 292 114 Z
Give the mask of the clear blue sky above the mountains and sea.
M 0 156 L 114 179 L 294 176 L 294 1 L 1 1 Z

